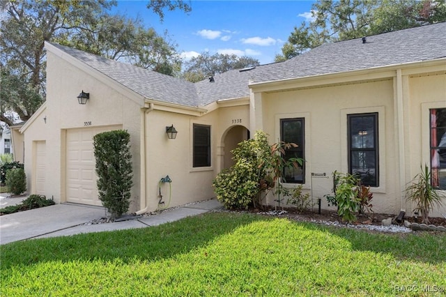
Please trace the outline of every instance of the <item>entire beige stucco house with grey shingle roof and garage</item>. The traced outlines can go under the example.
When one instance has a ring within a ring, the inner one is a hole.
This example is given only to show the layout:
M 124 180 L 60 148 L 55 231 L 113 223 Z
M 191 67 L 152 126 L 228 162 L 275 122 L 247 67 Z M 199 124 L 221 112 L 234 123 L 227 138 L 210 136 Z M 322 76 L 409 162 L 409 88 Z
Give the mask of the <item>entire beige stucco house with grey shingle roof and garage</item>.
M 170 206 L 209 199 L 213 178 L 232 165 L 231 149 L 263 130 L 270 142 L 297 142 L 306 160 L 286 172 L 286 186 L 302 184 L 316 201 L 330 194 L 332 172 L 356 172 L 371 186 L 375 212 L 409 213 L 404 189 L 420 166 L 430 165 L 433 185 L 446 190 L 445 32 L 440 23 L 330 43 L 196 84 L 45 43 L 47 101 L 14 130 L 24 139 L 28 188 L 57 202 L 100 205 L 92 137 L 125 129 L 132 211 L 158 208 L 167 175 Z M 77 101 L 81 91 L 89 93 L 86 105 Z M 171 125 L 176 139 L 167 138 Z M 440 212 L 446 208 L 431 215 Z

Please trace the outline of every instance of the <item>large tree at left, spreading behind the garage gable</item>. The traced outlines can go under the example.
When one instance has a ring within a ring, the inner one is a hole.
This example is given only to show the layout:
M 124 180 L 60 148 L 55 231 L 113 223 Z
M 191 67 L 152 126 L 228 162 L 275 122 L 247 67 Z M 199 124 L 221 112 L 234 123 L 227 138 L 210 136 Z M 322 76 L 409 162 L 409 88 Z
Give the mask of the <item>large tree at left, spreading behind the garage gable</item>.
M 15 121 L 5 111 L 13 111 L 26 121 L 45 101 L 45 40 L 168 75 L 179 73 L 176 45 L 167 41 L 167 34 L 160 36 L 146 29 L 141 20 L 110 15 L 108 10 L 116 3 L 0 0 L 5 13 L 0 38 L 1 121 L 8 125 Z M 183 1 L 151 1 L 148 8 L 160 20 L 164 8 L 185 12 L 191 9 Z

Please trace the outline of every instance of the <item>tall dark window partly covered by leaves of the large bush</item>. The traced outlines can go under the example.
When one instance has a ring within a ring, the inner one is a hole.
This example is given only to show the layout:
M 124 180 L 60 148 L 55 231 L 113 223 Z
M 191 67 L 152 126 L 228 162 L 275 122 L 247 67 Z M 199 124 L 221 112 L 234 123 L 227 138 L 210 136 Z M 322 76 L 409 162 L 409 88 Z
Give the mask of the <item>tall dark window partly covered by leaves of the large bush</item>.
M 303 118 L 299 119 L 282 119 L 280 120 L 280 139 L 282 142 L 292 142 L 297 144 L 296 148 L 289 148 L 285 152 L 285 160 L 290 158 L 302 158 L 304 159 L 305 152 L 305 121 Z M 284 169 L 284 182 L 285 183 L 305 183 L 305 166 L 298 168 L 285 168 Z

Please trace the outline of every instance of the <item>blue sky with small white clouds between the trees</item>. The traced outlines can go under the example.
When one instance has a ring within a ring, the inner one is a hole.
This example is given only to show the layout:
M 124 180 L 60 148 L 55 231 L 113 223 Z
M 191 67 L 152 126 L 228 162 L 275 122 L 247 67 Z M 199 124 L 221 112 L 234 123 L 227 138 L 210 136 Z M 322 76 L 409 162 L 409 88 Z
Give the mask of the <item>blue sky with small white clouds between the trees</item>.
M 166 11 L 164 22 L 147 1 L 118 1 L 114 11 L 139 17 L 157 33 L 167 30 L 183 57 L 201 52 L 251 56 L 272 63 L 295 26 L 308 20 L 314 1 L 191 1 L 192 12 Z

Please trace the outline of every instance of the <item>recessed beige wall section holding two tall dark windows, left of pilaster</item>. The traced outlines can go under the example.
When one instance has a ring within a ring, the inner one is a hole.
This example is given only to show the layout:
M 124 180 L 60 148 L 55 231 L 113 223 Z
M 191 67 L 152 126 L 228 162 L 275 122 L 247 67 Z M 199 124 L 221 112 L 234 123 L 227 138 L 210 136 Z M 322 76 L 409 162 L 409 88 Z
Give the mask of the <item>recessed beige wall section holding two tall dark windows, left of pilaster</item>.
M 393 116 L 393 82 L 361 82 L 341 86 L 322 86 L 312 89 L 263 93 L 263 130 L 270 142 L 280 139 L 280 119 L 305 119 L 305 184 L 312 192 L 314 203 L 322 199 L 322 208 L 328 209 L 323 195 L 332 190 L 332 172 L 348 172 L 347 114 L 378 112 L 380 183 L 374 188 L 374 211 L 395 213 L 399 199 L 395 196 L 395 167 Z M 327 178 L 312 178 L 312 173 Z M 293 185 L 289 185 L 293 186 Z M 272 204 L 272 197 L 268 203 Z

